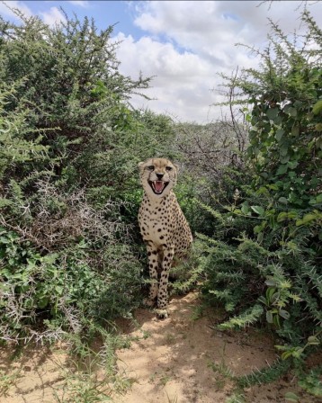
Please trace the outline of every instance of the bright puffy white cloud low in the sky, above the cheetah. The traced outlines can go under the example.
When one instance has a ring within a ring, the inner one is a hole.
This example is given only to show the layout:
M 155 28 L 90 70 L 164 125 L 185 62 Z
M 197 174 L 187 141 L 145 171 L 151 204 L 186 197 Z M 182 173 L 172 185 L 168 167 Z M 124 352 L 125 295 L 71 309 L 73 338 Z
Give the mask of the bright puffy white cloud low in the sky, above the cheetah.
M 149 37 L 135 41 L 120 34 L 117 40 L 121 40 L 117 56 L 123 75 L 137 78 L 141 70 L 144 76 L 154 76 L 151 88 L 144 94 L 157 99 L 146 102 L 136 96 L 132 99 L 134 106 L 148 106 L 181 121 L 207 120 L 210 103 L 214 102 L 210 87 L 215 80 L 215 72 L 207 60 L 191 52 L 179 53 L 173 44 Z

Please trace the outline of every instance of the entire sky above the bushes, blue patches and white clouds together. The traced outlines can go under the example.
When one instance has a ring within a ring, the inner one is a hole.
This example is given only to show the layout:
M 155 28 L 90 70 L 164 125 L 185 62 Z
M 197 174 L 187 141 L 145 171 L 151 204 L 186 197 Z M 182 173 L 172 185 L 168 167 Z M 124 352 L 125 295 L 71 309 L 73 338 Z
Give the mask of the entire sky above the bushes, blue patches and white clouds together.
M 145 94 L 147 102 L 134 96 L 135 107 L 165 113 L 175 121 L 207 123 L 218 119 L 222 110 L 219 74 L 231 75 L 238 67 L 255 67 L 254 58 L 237 42 L 264 49 L 269 32 L 268 18 L 291 34 L 301 30 L 300 12 L 305 3 L 322 21 L 322 2 L 317 1 L 4 1 L 0 15 L 17 21 L 8 8 L 38 15 L 53 25 L 67 15 L 93 17 L 104 29 L 116 24 L 112 40 L 121 41 L 117 57 L 120 71 L 137 78 L 154 76 Z

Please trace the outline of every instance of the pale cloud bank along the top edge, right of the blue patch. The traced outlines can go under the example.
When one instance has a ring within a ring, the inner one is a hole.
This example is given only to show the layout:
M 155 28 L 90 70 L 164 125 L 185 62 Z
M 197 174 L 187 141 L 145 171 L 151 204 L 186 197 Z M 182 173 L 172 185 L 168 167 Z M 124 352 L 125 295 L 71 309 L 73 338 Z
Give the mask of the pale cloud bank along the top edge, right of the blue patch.
M 282 29 L 291 33 L 300 27 L 301 2 L 250 1 L 152 1 L 139 2 L 135 23 L 151 34 L 174 40 L 184 49 L 191 49 L 225 66 L 234 64 L 234 45 L 242 42 L 263 46 L 269 31 L 268 17 L 281 22 Z M 322 18 L 322 7 L 315 4 L 316 20 Z

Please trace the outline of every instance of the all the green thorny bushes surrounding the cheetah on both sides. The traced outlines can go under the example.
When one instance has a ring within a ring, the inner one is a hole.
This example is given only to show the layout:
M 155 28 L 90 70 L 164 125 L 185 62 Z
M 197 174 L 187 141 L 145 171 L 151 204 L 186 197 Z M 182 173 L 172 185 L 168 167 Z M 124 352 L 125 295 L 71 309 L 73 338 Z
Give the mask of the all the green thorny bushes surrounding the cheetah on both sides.
M 223 76 L 229 120 L 206 126 L 130 106 L 149 78 L 120 74 L 112 27 L 21 18 L 0 20 L 1 339 L 79 342 L 130 316 L 146 282 L 137 166 L 166 156 L 197 234 L 182 289 L 199 282 L 227 312 L 221 329 L 260 324 L 302 363 L 322 319 L 322 32 L 309 13 L 298 42 L 272 22 L 261 67 Z

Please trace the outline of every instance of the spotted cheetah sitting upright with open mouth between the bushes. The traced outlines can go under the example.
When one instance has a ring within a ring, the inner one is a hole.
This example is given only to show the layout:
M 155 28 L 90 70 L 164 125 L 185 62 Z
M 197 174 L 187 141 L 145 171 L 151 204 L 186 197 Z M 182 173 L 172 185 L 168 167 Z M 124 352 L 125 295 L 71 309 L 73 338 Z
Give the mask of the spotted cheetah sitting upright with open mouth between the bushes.
M 139 208 L 139 228 L 148 251 L 152 281 L 146 304 L 157 298 L 158 318 L 167 318 L 167 283 L 175 259 L 182 259 L 192 244 L 192 232 L 173 192 L 177 166 L 165 158 L 139 163 L 144 196 Z

